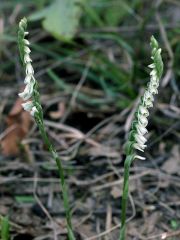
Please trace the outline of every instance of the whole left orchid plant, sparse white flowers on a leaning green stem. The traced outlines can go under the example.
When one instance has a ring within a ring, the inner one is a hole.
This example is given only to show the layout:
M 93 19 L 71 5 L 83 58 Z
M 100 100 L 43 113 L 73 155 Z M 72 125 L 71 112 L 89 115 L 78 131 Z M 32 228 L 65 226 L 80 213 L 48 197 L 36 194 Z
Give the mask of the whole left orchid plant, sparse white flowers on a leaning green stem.
M 27 20 L 26 18 L 23 18 L 19 23 L 18 45 L 19 45 L 20 57 L 21 57 L 23 66 L 25 68 L 26 77 L 25 77 L 24 83 L 26 86 L 24 88 L 24 91 L 22 93 L 19 93 L 19 96 L 24 101 L 26 101 L 25 103 L 22 104 L 22 107 L 24 108 L 25 111 L 30 112 L 30 114 L 34 117 L 34 120 L 39 127 L 42 138 L 45 144 L 47 145 L 48 150 L 51 153 L 58 167 L 58 172 L 60 177 L 60 188 L 62 191 L 64 209 L 66 212 L 68 237 L 69 237 L 69 240 L 75 240 L 75 236 L 72 230 L 71 211 L 70 211 L 69 200 L 68 200 L 67 186 L 66 186 L 65 177 L 64 177 L 64 169 L 63 169 L 61 159 L 59 158 L 56 150 L 54 149 L 54 146 L 49 140 L 49 137 L 47 135 L 47 132 L 44 126 L 43 110 L 40 103 L 37 81 L 34 77 L 34 69 L 31 64 L 32 63 L 32 59 L 30 58 L 31 50 L 29 48 L 30 43 L 26 39 L 26 36 L 28 35 L 28 32 L 26 31 L 26 29 L 27 29 Z

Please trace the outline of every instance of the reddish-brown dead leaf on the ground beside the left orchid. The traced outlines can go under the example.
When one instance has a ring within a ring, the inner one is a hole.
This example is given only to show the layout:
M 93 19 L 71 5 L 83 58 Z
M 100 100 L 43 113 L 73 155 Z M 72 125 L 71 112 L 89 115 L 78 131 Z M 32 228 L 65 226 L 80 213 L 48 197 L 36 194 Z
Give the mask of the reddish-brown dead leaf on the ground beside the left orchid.
M 31 125 L 31 116 L 24 111 L 22 100 L 18 98 L 6 118 L 7 128 L 0 145 L 4 156 L 17 156 L 21 140 L 26 136 Z

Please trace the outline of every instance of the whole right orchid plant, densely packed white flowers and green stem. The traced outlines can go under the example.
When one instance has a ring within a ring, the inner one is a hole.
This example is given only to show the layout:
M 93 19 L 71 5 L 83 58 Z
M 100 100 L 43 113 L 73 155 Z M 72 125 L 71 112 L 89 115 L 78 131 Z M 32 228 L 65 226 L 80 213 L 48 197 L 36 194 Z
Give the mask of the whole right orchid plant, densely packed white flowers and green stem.
M 135 113 L 134 121 L 132 122 L 132 128 L 129 133 L 128 142 L 126 144 L 126 159 L 124 162 L 124 184 L 123 184 L 123 195 L 122 195 L 122 213 L 121 213 L 121 231 L 120 240 L 125 240 L 126 231 L 126 208 L 128 201 L 129 192 L 129 171 L 132 162 L 138 158 L 144 160 L 145 158 L 140 154 L 136 154 L 136 150 L 144 152 L 147 139 L 144 136 L 147 131 L 149 108 L 153 107 L 154 95 L 158 93 L 159 81 L 163 73 L 163 62 L 161 58 L 161 49 L 158 46 L 158 42 L 152 36 L 151 37 L 151 48 L 152 48 L 152 60 L 153 63 L 149 65 L 151 68 L 150 82 L 147 85 L 147 89 L 137 111 Z

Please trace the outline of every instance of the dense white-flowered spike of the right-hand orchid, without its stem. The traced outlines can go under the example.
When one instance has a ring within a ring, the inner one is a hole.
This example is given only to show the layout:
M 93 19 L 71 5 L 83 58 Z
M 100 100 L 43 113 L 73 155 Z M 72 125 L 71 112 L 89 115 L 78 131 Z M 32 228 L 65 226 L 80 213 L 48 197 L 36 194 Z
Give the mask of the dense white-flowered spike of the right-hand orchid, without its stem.
M 152 36 L 151 37 L 151 47 L 152 47 L 152 60 L 153 63 L 149 65 L 151 68 L 150 72 L 150 82 L 147 85 L 145 93 L 141 98 L 141 102 L 138 106 L 137 112 L 135 114 L 135 120 L 132 124 L 132 131 L 129 135 L 128 141 L 128 154 L 133 152 L 133 149 L 144 152 L 146 148 L 146 137 L 144 136 L 147 130 L 149 108 L 153 107 L 154 95 L 158 93 L 159 81 L 163 72 L 163 62 L 161 58 L 161 49 L 158 46 L 158 42 Z M 142 156 L 136 155 L 136 158 L 145 159 Z

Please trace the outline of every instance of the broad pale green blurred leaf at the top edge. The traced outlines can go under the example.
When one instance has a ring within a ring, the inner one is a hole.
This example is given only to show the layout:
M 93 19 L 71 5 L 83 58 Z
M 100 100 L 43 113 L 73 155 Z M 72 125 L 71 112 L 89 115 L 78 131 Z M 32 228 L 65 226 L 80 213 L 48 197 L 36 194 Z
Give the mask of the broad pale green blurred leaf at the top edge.
M 86 0 L 55 0 L 45 9 L 36 12 L 29 20 L 43 18 L 46 31 L 62 41 L 70 41 L 75 36 L 82 13 L 82 4 Z

